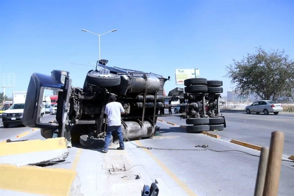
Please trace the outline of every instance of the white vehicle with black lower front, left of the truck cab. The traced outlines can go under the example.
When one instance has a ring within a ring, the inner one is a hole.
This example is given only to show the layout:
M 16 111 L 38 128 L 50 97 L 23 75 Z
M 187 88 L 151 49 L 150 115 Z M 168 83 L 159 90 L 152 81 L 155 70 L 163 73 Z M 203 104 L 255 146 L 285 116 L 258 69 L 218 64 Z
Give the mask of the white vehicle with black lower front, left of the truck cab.
M 2 123 L 5 128 L 10 124 L 22 124 L 22 115 L 24 113 L 25 104 L 13 104 L 2 115 Z

